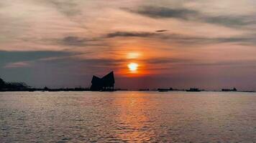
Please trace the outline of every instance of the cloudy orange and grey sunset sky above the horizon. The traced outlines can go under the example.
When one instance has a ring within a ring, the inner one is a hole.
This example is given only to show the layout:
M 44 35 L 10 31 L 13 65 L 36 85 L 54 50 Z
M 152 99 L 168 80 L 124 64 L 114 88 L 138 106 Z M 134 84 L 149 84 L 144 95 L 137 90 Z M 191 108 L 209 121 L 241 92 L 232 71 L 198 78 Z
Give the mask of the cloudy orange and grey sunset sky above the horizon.
M 0 77 L 89 87 L 93 75 L 114 71 L 123 89 L 256 90 L 255 4 L 1 0 Z

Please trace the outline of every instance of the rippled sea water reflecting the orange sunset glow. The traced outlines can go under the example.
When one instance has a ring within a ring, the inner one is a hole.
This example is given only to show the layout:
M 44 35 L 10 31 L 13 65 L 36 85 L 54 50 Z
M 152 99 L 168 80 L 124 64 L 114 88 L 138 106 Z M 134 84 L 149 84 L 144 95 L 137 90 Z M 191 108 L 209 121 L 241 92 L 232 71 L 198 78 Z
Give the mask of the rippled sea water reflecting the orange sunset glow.
M 1 92 L 0 142 L 256 142 L 256 94 Z

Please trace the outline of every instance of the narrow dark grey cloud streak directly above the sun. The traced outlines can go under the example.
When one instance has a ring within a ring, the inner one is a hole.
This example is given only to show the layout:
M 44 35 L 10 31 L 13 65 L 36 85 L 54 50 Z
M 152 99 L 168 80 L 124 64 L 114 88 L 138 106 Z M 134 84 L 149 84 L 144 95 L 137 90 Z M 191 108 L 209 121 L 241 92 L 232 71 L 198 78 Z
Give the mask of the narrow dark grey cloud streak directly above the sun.
M 114 38 L 116 36 L 139 36 L 139 37 L 149 37 L 154 36 L 156 33 L 152 32 L 136 32 L 136 31 L 116 31 L 114 33 L 106 34 L 106 38 Z

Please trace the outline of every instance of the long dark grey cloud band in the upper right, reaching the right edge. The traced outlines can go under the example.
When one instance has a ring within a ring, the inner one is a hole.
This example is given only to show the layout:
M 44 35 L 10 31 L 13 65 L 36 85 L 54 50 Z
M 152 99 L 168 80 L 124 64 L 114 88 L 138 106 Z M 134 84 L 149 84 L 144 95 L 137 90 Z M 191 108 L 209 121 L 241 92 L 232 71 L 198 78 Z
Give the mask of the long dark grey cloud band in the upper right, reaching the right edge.
M 125 9 L 127 11 L 149 16 L 155 19 L 175 18 L 186 21 L 200 21 L 221 26 L 239 27 L 256 24 L 255 16 L 211 16 L 191 9 L 173 9 L 159 6 L 142 6 L 137 10 Z M 242 27 L 241 27 L 242 28 Z

